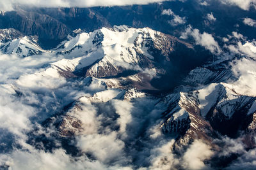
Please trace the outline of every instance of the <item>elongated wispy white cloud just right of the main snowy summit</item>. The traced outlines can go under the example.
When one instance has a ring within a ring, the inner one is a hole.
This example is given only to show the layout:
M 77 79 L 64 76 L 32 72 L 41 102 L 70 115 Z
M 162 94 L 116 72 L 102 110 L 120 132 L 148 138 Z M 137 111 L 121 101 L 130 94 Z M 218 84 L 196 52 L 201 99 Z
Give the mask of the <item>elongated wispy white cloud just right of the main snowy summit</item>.
M 207 32 L 201 34 L 199 29 L 193 29 L 191 25 L 189 25 L 186 31 L 182 33 L 180 38 L 187 39 L 188 36 L 192 36 L 195 39 L 196 45 L 202 45 L 212 53 L 221 53 L 218 42 L 215 41 L 211 34 L 208 34 Z

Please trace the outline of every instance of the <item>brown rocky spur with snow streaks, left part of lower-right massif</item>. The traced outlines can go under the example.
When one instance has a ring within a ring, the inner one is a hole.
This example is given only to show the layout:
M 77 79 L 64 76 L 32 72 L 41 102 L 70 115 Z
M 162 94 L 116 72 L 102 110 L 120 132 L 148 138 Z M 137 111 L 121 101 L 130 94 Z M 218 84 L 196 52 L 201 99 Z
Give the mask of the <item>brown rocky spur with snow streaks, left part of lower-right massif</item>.
M 168 96 L 168 110 L 164 114 L 161 129 L 164 133 L 178 134 L 175 147 L 188 145 L 195 139 L 211 143 L 216 132 L 211 124 L 200 114 L 200 101 L 195 92 L 180 92 Z M 174 99 L 174 100 L 173 100 Z

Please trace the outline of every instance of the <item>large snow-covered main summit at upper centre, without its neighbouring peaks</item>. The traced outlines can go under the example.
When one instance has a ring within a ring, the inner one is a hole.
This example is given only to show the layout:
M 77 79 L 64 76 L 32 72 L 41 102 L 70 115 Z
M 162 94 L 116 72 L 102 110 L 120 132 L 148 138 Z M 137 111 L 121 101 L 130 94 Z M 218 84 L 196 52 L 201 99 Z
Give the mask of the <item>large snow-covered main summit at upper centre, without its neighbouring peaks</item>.
M 77 32 L 77 31 L 76 31 Z M 178 46 L 191 45 L 150 28 L 135 29 L 125 25 L 68 36 L 55 50 L 65 59 L 76 60 L 73 71 L 86 69 L 87 76 L 104 78 L 125 70 L 151 69 L 154 62 L 166 57 Z M 157 59 L 156 59 L 157 57 Z

